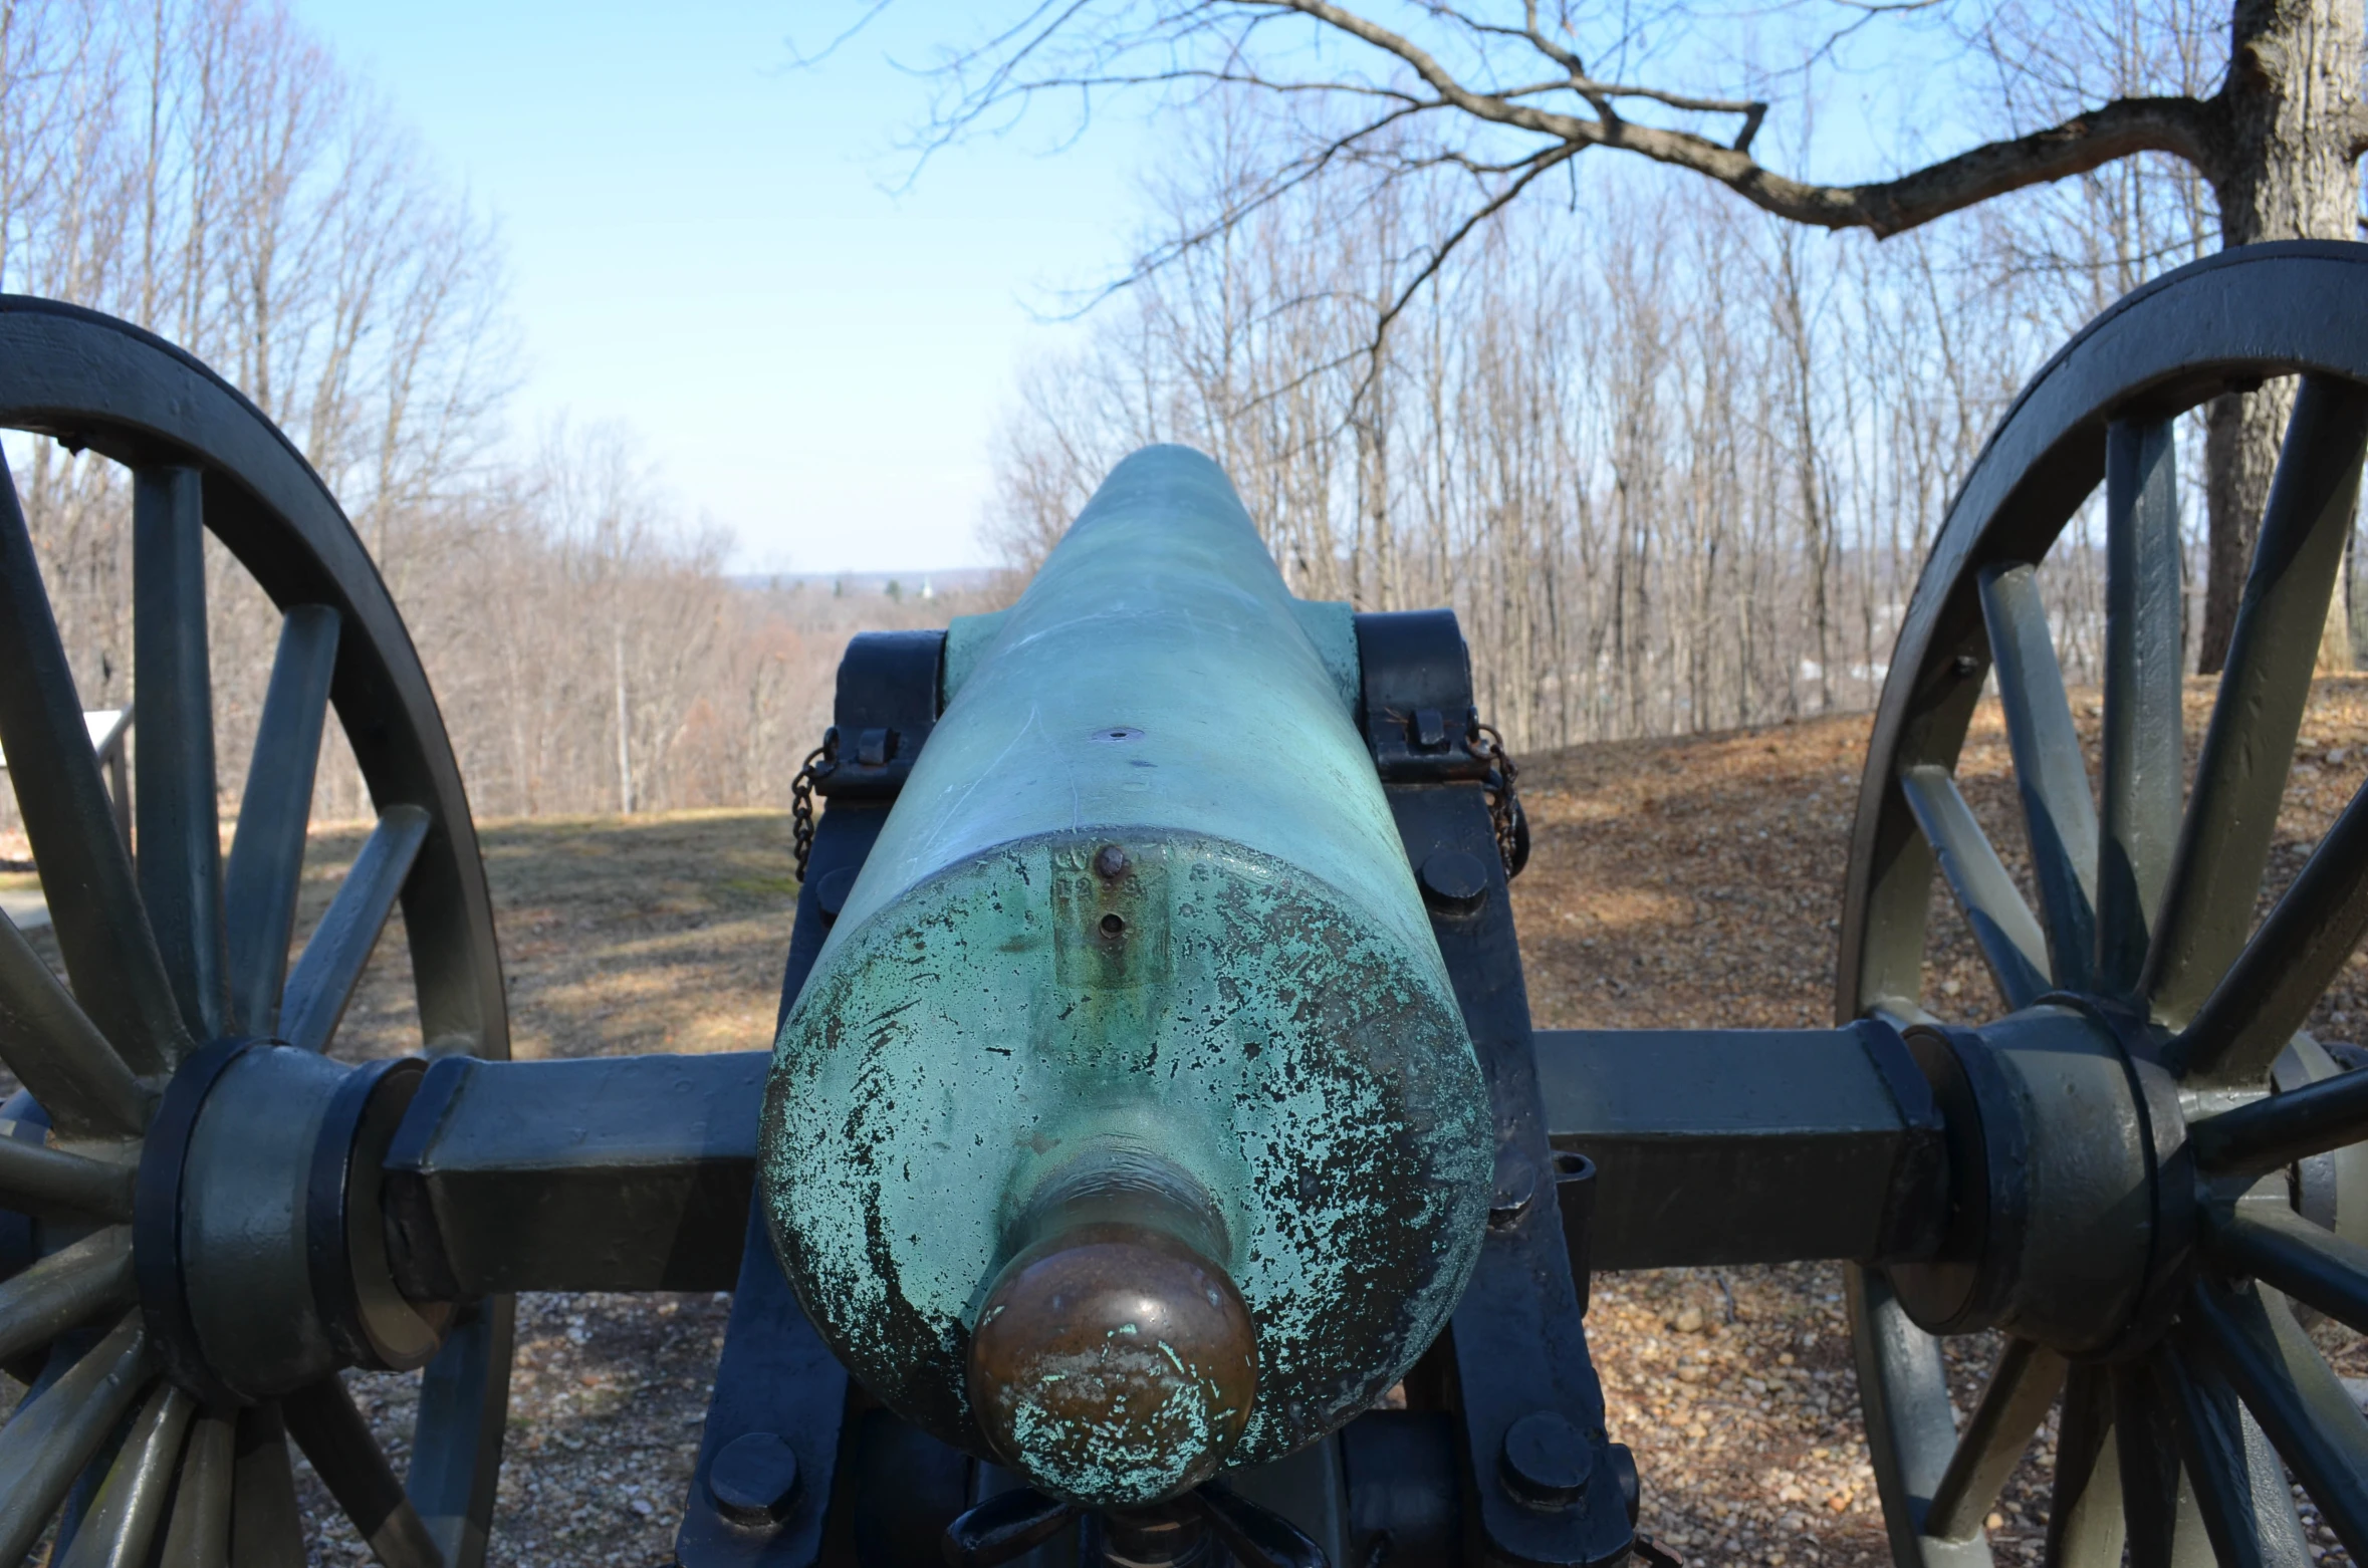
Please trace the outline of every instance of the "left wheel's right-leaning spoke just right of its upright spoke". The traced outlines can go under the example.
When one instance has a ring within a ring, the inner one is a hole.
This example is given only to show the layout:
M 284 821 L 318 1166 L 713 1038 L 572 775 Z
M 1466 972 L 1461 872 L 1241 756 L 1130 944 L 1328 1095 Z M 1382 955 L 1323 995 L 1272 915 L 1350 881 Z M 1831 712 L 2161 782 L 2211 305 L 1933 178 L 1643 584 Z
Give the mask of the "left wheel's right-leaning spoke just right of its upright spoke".
M 230 912 L 230 1011 L 251 1035 L 270 1035 L 279 1026 L 336 632 L 336 611 L 324 604 L 298 604 L 279 621 L 279 654 L 263 694 L 239 829 L 230 841 L 223 891 Z

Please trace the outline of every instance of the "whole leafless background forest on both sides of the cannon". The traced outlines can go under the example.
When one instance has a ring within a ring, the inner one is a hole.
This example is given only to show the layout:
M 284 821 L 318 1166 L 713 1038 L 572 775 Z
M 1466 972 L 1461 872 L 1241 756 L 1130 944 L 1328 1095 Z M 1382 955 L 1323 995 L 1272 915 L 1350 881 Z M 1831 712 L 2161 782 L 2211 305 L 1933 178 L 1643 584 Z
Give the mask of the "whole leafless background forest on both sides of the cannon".
M 2221 73 L 2188 0 L 2077 19 L 2022 40 L 2060 54 L 2070 97 Z M 983 526 L 1016 583 L 1118 455 L 1201 445 L 1298 592 L 1454 604 L 1523 748 L 1866 706 L 2013 391 L 2105 301 L 2216 244 L 2169 161 L 1883 244 L 1575 171 L 1568 204 L 1482 223 L 1376 329 L 1437 218 L 1407 187 L 1307 185 L 1175 244 L 1250 178 L 1262 114 L 1210 95 L 1179 126 L 1144 237 L 1175 261 L 1021 377 Z M 154 327 L 298 441 L 405 609 L 478 810 L 784 803 L 845 635 L 992 595 L 751 587 L 628 436 L 509 438 L 500 253 L 400 116 L 268 2 L 0 0 L 0 287 Z M 5 452 L 85 706 L 123 703 L 128 481 L 47 441 Z M 2058 554 L 2079 680 L 2096 554 Z M 213 566 L 227 805 L 277 618 Z M 322 815 L 362 812 L 341 758 L 320 789 Z

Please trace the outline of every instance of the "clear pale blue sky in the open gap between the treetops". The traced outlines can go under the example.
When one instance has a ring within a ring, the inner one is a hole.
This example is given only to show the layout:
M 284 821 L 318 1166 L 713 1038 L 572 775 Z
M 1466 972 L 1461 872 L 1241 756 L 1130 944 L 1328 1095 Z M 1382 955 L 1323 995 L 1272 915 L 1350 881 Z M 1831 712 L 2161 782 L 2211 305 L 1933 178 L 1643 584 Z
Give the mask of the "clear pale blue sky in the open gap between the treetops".
M 623 422 L 748 571 L 983 561 L 987 441 L 1016 369 L 1075 327 L 1134 225 L 1139 126 L 978 140 L 912 173 L 897 71 L 978 12 L 907 0 L 294 0 L 504 230 L 521 436 Z

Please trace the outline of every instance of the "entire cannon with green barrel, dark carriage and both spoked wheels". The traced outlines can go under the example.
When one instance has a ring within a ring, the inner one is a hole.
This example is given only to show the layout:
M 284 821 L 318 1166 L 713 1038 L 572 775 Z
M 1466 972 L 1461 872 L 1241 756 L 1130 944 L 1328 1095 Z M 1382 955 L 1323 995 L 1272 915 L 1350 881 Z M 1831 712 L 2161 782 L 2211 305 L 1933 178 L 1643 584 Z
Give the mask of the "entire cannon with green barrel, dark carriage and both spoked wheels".
M 391 1568 L 485 1559 L 519 1291 L 732 1291 L 684 1568 L 1667 1561 L 1594 1270 L 1847 1260 L 1892 1556 L 2368 1551 L 2368 1075 L 2304 1023 L 2368 801 L 2254 917 L 2368 450 L 2368 246 L 2117 303 L 1944 519 L 1873 725 L 1835 1026 L 1539 1030 L 1527 834 L 1444 611 L 1293 599 L 1224 476 L 1120 464 L 1028 592 L 857 637 L 770 1052 L 509 1061 L 459 770 L 336 502 L 244 398 L 0 301 L 0 424 L 133 474 L 135 846 L 14 490 L 0 748 L 62 983 L 0 921 L 0 1563 L 303 1561 L 303 1450 Z M 2299 374 L 2181 739 L 2176 419 Z M 2103 488 L 2091 784 L 2034 585 Z M 282 609 L 220 850 L 204 533 Z M 2006 713 L 2036 907 L 1954 763 Z M 341 725 L 379 820 L 289 957 Z M 1923 997 L 1942 891 L 1996 981 Z M 395 907 L 419 1052 L 327 1052 Z M 760 1042 L 753 1042 L 760 1045 Z M 1942 1343 L 2001 1331 L 1963 1421 Z M 341 1383 L 417 1371 L 395 1473 Z M 1383 1397 L 1383 1395 L 1390 1397 Z

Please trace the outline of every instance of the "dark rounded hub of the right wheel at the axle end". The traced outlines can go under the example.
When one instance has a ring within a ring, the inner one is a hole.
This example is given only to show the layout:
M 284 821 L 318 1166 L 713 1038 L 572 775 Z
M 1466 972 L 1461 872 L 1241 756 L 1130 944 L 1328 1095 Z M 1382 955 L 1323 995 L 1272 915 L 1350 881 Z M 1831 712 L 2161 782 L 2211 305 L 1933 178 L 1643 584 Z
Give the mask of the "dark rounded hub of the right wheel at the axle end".
M 1954 1194 L 1939 1255 L 1892 1267 L 1909 1317 L 2081 1357 L 2160 1338 L 2193 1272 L 2195 1180 L 2143 1026 L 2053 995 L 1906 1042 L 1946 1116 Z

